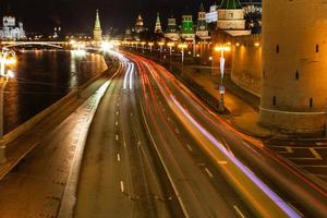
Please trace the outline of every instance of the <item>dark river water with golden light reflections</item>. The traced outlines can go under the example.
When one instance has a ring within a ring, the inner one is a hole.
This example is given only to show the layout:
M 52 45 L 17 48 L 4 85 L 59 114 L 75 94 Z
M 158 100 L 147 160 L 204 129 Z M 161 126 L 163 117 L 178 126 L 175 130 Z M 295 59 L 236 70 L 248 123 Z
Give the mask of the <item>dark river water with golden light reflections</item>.
M 4 93 L 4 133 L 15 129 L 61 97 L 106 70 L 101 56 L 76 51 L 17 52 L 15 78 Z

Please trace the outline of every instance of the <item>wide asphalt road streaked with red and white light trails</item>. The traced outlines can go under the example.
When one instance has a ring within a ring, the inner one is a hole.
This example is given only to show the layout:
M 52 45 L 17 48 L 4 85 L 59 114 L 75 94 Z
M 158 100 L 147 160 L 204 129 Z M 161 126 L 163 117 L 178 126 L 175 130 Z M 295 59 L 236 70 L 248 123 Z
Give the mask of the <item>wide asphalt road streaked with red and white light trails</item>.
M 1 218 L 327 217 L 324 185 L 158 64 L 117 56 L 117 76 L 0 182 Z

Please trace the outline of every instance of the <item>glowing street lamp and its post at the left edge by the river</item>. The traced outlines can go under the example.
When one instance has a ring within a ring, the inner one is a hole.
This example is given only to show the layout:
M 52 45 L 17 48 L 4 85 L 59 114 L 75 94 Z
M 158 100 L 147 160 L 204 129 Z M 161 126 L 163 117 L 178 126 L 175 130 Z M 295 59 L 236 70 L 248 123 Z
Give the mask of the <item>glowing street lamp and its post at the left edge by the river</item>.
M 7 69 L 8 65 L 16 62 L 15 53 L 10 50 L 2 49 L 0 53 L 0 137 L 3 140 L 3 98 L 4 89 L 9 78 L 14 77 L 11 70 Z M 0 165 L 4 164 L 5 159 L 5 145 L 0 144 Z

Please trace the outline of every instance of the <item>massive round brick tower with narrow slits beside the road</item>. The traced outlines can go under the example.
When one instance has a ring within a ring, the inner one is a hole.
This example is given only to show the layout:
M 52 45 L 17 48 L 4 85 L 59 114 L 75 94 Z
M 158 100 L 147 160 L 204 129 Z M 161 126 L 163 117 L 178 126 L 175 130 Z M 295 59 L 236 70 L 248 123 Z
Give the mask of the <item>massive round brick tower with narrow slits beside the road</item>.
M 327 4 L 263 1 L 261 123 L 319 132 L 327 109 Z

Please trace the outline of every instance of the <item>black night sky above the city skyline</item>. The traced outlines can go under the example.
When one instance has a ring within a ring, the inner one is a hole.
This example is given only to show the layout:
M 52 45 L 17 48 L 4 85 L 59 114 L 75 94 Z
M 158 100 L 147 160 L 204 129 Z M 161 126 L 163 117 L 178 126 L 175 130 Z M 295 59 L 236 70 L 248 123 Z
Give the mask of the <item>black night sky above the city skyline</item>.
M 24 22 L 27 32 L 52 33 L 60 25 L 64 33 L 87 33 L 92 31 L 95 10 L 100 10 L 104 31 L 108 27 L 124 29 L 134 25 L 138 13 L 143 14 L 145 25 L 153 28 L 156 12 L 160 12 L 162 25 L 167 16 L 174 14 L 180 19 L 189 5 L 194 13 L 201 2 L 206 10 L 215 0 L 0 0 L 1 17 L 8 5 L 15 16 Z M 220 0 L 218 0 L 220 2 Z

